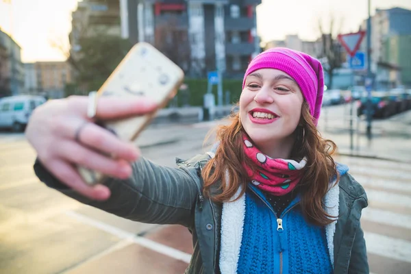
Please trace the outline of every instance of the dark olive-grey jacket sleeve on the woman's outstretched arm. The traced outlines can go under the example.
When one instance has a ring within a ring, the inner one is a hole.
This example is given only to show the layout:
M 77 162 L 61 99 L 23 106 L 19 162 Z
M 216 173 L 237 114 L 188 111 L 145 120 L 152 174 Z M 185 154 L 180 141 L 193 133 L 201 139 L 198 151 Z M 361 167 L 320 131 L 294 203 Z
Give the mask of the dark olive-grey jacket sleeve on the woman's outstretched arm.
M 106 201 L 95 201 L 66 187 L 39 160 L 34 164 L 40 181 L 87 205 L 143 223 L 192 225 L 200 194 L 197 169 L 160 166 L 144 158 L 134 162 L 132 169 L 129 179 L 106 179 L 103 184 L 112 195 Z

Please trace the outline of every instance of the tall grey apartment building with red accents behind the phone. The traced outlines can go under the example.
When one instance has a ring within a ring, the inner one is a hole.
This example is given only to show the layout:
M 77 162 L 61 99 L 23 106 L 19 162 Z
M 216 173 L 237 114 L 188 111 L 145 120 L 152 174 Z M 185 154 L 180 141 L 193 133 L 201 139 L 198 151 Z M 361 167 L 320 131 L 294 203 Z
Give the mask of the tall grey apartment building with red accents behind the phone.
M 121 34 L 132 43 L 155 45 L 190 76 L 203 77 L 219 69 L 225 77 L 242 77 L 251 58 L 260 53 L 256 32 L 256 6 L 260 3 L 121 0 Z

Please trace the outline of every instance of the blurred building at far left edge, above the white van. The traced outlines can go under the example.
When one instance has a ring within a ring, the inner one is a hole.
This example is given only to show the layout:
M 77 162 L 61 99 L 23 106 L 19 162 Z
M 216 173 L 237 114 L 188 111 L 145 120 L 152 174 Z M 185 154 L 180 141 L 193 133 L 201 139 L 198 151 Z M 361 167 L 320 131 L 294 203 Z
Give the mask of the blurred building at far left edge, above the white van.
M 21 47 L 0 29 L 0 97 L 21 94 L 23 85 Z

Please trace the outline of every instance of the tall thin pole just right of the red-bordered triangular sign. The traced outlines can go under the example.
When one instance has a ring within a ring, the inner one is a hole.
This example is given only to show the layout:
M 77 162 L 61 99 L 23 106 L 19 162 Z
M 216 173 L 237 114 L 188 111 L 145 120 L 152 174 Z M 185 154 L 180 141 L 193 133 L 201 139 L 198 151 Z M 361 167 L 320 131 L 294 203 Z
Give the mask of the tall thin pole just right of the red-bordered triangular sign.
M 367 91 L 367 112 L 366 112 L 366 136 L 371 140 L 371 122 L 373 120 L 373 107 L 371 105 L 371 90 L 372 90 L 372 75 L 371 75 L 371 0 L 368 0 L 368 13 L 369 17 L 366 21 L 366 75 L 369 87 L 366 87 Z M 370 83 L 371 81 L 371 83 Z

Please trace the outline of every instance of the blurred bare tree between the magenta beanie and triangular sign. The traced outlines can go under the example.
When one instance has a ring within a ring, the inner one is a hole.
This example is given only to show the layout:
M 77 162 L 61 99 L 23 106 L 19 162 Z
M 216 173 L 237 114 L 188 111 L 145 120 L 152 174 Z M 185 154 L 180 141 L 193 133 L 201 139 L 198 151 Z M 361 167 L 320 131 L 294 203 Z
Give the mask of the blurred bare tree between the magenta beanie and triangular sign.
M 337 40 L 338 33 L 343 25 L 341 20 L 338 29 L 336 30 L 336 18 L 331 16 L 329 22 L 329 31 L 325 32 L 321 20 L 319 20 L 319 31 L 321 34 L 321 53 L 319 58 L 323 60 L 324 71 L 328 74 L 328 88 L 332 88 L 334 70 L 341 67 L 344 60 L 342 47 Z

